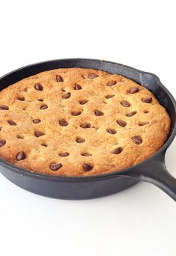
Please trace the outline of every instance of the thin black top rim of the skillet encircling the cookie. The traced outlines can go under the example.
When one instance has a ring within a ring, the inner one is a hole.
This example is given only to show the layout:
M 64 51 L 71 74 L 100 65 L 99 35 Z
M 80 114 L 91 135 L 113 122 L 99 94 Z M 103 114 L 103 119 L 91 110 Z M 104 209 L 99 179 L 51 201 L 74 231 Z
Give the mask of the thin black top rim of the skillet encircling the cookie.
M 37 62 L 37 63 L 34 63 L 34 64 L 26 65 L 24 67 L 19 67 L 18 69 L 11 71 L 11 72 L 5 74 L 4 76 L 1 76 L 0 81 L 1 81 L 1 79 L 5 79 L 7 76 L 10 76 L 11 74 L 13 74 L 15 72 L 25 70 L 28 67 L 34 67 L 35 65 L 40 65 L 40 64 L 51 64 L 55 61 L 94 61 L 94 62 L 100 62 L 102 60 L 92 59 L 92 58 L 61 58 L 61 59 L 54 59 L 54 60 L 50 60 L 50 61 L 41 61 L 41 62 Z M 137 72 L 142 73 L 142 74 L 148 74 L 148 75 L 153 76 L 157 81 L 157 85 L 160 88 L 163 88 L 163 90 L 168 95 L 169 99 L 172 101 L 172 104 L 175 108 L 175 114 L 176 114 L 176 100 L 175 100 L 175 98 L 172 96 L 170 91 L 160 82 L 159 77 L 156 76 L 154 73 L 145 72 L 145 71 L 142 71 L 142 70 L 137 70 L 136 68 L 133 68 L 133 67 L 130 67 L 130 66 L 127 66 L 127 65 L 124 65 L 124 64 L 119 64 L 119 63 L 113 62 L 113 61 L 104 61 L 103 60 L 102 62 L 105 62 L 107 64 L 115 64 L 115 65 L 119 65 L 119 66 L 122 66 L 122 67 L 127 67 L 130 70 L 134 70 L 134 71 L 137 71 Z M 45 70 L 43 70 L 43 71 L 45 71 Z M 43 71 L 41 71 L 41 72 L 43 72 Z M 26 76 L 26 77 L 28 77 L 28 76 Z M 68 176 L 68 177 L 66 177 L 66 176 L 58 176 L 58 175 L 56 176 L 56 175 L 40 174 L 40 173 L 35 173 L 35 172 L 28 171 L 25 168 L 16 167 L 16 165 L 13 165 L 10 162 L 7 162 L 7 161 L 5 161 L 4 159 L 1 159 L 1 158 L 0 158 L 0 165 L 2 165 L 4 168 L 9 169 L 10 171 L 18 173 L 18 174 L 25 175 L 25 176 L 30 176 L 30 177 L 37 178 L 37 179 L 44 179 L 44 180 L 49 179 L 49 180 L 53 180 L 53 181 L 58 180 L 58 181 L 63 181 L 63 182 L 64 181 L 88 182 L 89 180 L 91 180 L 91 181 L 94 180 L 95 181 L 95 180 L 99 180 L 99 179 L 110 179 L 110 178 L 113 178 L 114 176 L 116 176 L 117 174 L 118 175 L 121 175 L 123 173 L 126 174 L 126 173 L 128 173 L 128 171 L 133 170 L 134 168 L 139 168 L 142 165 L 148 164 L 148 163 L 152 162 L 152 160 L 156 159 L 157 156 L 160 156 L 162 153 L 165 155 L 166 150 L 169 147 L 169 145 L 172 143 L 172 141 L 174 140 L 175 135 L 176 135 L 176 123 L 175 123 L 175 127 L 172 131 L 172 134 L 169 136 L 169 139 L 166 141 L 165 144 L 163 144 L 163 147 L 161 147 L 160 150 L 158 150 L 156 153 L 154 153 L 154 155 L 150 156 L 148 159 L 145 159 L 142 162 L 139 162 L 137 165 L 133 165 L 131 167 L 122 169 L 121 171 L 111 171 L 110 173 L 107 173 L 107 174 L 98 174 L 98 175 L 90 175 L 90 176 L 78 176 L 78 177 L 77 176 L 70 176 L 70 177 Z

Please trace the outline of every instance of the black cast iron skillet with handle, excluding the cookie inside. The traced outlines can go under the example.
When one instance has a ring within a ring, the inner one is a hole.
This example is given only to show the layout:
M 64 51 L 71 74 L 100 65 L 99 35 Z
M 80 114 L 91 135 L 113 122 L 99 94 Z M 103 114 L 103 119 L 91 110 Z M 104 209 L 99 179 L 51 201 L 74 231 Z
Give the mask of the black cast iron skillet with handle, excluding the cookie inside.
M 144 180 L 160 187 L 176 201 L 176 179 L 166 170 L 164 160 L 166 150 L 176 135 L 176 102 L 172 94 L 161 84 L 160 79 L 152 73 L 142 72 L 110 61 L 75 58 L 45 61 L 22 67 L 1 77 L 0 89 L 6 88 L 25 77 L 60 67 L 85 67 L 118 73 L 147 87 L 157 97 L 160 104 L 166 108 L 172 120 L 171 131 L 166 144 L 154 156 L 144 162 L 110 174 L 91 177 L 46 176 L 31 173 L 0 159 L 1 174 L 23 189 L 51 198 L 98 198 L 128 189 L 139 180 Z

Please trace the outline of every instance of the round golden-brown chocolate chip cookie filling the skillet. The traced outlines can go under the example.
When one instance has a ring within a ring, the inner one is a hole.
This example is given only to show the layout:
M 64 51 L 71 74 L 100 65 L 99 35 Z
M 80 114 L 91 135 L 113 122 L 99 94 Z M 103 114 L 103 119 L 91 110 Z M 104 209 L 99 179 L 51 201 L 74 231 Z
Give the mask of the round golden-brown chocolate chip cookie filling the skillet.
M 86 176 L 136 165 L 170 119 L 141 85 L 100 70 L 45 71 L 0 92 L 0 156 L 32 172 Z

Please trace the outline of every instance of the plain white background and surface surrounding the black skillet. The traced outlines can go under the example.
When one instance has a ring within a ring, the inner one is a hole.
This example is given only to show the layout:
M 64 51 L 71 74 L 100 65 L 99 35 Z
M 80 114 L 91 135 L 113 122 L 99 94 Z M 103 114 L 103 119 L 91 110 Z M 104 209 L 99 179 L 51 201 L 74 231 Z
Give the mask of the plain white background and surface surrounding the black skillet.
M 98 58 L 156 73 L 176 97 L 175 1 L 1 1 L 0 76 L 55 58 Z M 166 165 L 176 177 L 176 141 Z M 0 254 L 176 255 L 176 204 L 151 184 L 61 201 L 0 175 Z

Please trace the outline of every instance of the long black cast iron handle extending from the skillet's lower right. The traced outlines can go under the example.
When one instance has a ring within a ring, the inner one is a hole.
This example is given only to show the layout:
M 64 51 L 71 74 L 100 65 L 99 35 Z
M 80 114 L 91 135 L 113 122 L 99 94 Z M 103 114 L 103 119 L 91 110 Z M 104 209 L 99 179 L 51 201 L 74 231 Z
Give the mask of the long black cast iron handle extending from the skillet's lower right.
M 176 178 L 167 171 L 164 157 L 163 153 L 152 162 L 142 165 L 141 168 L 135 168 L 129 173 L 127 172 L 126 175 L 154 184 L 176 201 Z

